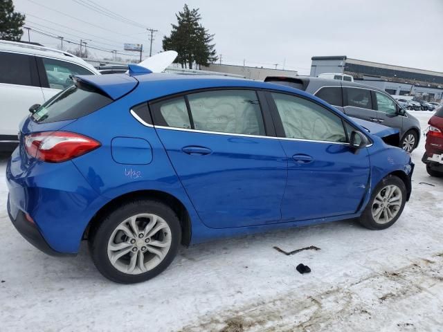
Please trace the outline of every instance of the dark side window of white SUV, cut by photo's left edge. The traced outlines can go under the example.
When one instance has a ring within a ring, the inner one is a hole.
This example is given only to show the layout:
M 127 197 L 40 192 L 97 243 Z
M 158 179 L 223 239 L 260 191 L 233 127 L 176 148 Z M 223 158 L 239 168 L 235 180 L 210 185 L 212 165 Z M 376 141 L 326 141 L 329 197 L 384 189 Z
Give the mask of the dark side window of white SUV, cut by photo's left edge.
M 35 57 L 0 52 L 0 83 L 38 86 Z

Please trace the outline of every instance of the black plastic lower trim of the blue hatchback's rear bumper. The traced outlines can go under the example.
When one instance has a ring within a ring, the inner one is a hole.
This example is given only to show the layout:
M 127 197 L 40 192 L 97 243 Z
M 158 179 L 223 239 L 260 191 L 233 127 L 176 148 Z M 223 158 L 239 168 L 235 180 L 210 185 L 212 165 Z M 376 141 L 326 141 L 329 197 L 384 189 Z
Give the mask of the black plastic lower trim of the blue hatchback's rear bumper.
M 12 225 L 17 229 L 17 231 L 21 234 L 22 237 L 26 239 L 30 244 L 35 246 L 35 248 L 42 250 L 47 255 L 51 256 L 74 256 L 75 254 L 63 253 L 53 250 L 51 246 L 48 245 L 42 233 L 38 230 L 35 223 L 30 223 L 26 219 L 26 216 L 23 211 L 17 212 L 17 217 L 14 219 L 10 212 L 10 202 L 8 197 L 8 215 L 12 221 Z

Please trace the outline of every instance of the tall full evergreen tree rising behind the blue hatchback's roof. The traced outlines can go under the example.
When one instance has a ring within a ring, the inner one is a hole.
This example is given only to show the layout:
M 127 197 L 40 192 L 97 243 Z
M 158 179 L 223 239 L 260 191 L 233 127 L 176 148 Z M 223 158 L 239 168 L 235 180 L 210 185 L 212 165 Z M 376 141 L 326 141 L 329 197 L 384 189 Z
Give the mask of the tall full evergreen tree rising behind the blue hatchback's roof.
M 179 55 L 175 62 L 182 68 L 208 66 L 217 61 L 215 44 L 211 44 L 214 35 L 200 24 L 201 15 L 199 9 L 190 10 L 188 5 L 183 7 L 183 12 L 175 15 L 177 24 L 172 25 L 169 37 L 163 37 L 163 49 L 175 50 Z

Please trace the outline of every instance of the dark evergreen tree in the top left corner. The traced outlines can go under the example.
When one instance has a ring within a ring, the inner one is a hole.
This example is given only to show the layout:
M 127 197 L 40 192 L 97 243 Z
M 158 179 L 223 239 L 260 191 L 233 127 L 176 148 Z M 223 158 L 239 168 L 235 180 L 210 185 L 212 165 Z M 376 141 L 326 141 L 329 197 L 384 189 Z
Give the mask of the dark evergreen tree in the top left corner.
M 0 0 L 0 39 L 19 41 L 24 21 L 25 15 L 14 12 L 12 0 Z

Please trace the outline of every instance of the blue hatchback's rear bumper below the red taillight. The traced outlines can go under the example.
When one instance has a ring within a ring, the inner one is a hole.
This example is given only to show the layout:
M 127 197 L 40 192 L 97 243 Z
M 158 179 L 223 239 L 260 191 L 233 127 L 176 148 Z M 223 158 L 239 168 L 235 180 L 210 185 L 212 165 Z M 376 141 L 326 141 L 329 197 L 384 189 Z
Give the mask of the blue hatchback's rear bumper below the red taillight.
M 6 167 L 12 223 L 43 252 L 75 255 L 89 221 L 106 200 L 90 187 L 71 161 L 26 162 L 18 150 L 12 153 Z

